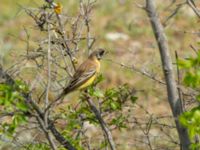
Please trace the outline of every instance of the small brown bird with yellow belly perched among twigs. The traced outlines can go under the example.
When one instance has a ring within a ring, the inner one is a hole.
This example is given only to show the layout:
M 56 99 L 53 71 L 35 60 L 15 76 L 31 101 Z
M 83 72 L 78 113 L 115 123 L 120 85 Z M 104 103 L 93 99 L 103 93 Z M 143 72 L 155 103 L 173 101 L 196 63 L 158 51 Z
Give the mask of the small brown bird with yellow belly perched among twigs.
M 100 72 L 100 60 L 104 54 L 105 50 L 102 48 L 93 51 L 78 67 L 70 79 L 69 84 L 64 88 L 63 92 L 57 99 L 63 98 L 72 91 L 86 89 L 90 86 Z

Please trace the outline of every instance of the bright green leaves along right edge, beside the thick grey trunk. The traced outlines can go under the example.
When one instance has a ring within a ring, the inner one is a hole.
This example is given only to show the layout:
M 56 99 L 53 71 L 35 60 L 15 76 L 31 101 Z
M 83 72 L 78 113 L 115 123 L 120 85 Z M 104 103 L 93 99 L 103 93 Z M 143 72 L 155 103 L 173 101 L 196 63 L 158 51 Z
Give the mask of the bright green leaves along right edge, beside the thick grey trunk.
M 200 52 L 197 52 L 196 57 L 190 57 L 186 60 L 179 60 L 178 65 L 184 69 L 185 76 L 184 84 L 194 90 L 199 89 L 200 86 Z M 196 100 L 200 100 L 200 93 L 196 95 Z M 191 149 L 196 150 L 200 148 L 199 143 L 195 143 L 195 138 L 200 135 L 200 107 L 197 106 L 190 111 L 184 112 L 179 118 L 181 124 L 188 129 L 190 139 L 192 141 Z

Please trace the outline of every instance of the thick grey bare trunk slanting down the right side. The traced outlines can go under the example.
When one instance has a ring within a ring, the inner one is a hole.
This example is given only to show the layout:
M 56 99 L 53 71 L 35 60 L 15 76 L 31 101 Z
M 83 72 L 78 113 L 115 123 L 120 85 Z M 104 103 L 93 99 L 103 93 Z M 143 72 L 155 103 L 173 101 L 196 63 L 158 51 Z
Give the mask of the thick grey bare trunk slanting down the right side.
M 169 54 L 169 48 L 163 26 L 158 18 L 153 0 L 146 0 L 146 12 L 159 47 L 163 72 L 166 80 L 168 102 L 175 118 L 176 129 L 178 131 L 182 150 L 188 150 L 190 145 L 187 129 L 182 127 L 178 117 L 182 114 L 182 106 L 178 98 L 177 85 L 173 74 L 173 65 Z

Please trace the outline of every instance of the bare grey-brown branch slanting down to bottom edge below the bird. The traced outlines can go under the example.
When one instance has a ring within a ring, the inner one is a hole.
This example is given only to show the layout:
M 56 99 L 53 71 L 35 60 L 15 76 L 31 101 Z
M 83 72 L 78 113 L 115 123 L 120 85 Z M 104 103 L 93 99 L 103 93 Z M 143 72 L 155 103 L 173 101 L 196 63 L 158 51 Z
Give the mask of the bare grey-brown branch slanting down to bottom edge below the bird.
M 90 108 L 92 109 L 93 113 L 95 114 L 97 120 L 99 121 L 102 130 L 104 131 L 104 133 L 106 135 L 106 138 L 107 138 L 108 143 L 110 145 L 110 149 L 116 150 L 112 134 L 111 134 L 110 130 L 108 129 L 107 124 L 104 122 L 103 118 L 101 117 L 99 110 L 96 108 L 95 104 L 93 103 L 93 101 L 89 97 L 86 97 L 86 100 L 87 100 Z

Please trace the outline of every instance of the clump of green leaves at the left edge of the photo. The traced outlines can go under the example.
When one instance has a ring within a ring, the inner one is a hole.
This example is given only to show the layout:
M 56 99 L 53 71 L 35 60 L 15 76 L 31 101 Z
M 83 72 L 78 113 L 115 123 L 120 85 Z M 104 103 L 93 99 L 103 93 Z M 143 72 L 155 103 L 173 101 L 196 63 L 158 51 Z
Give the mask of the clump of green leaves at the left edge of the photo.
M 22 93 L 27 92 L 28 87 L 21 81 L 13 85 L 0 84 L 1 115 L 10 116 L 10 120 L 1 123 L 1 133 L 12 137 L 17 127 L 27 123 L 28 105 L 22 96 Z

